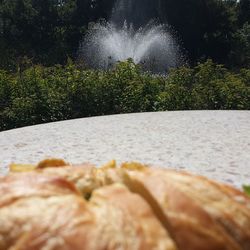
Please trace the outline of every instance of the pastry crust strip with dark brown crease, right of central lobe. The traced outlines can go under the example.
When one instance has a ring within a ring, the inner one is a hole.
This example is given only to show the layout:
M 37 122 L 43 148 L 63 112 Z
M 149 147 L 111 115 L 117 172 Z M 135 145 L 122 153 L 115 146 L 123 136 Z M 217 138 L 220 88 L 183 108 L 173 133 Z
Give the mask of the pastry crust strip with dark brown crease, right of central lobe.
M 153 170 L 152 170 L 153 171 Z M 165 215 L 166 227 L 180 249 L 240 249 L 230 236 L 192 198 L 162 175 L 127 172 L 127 183 Z

